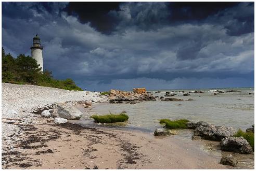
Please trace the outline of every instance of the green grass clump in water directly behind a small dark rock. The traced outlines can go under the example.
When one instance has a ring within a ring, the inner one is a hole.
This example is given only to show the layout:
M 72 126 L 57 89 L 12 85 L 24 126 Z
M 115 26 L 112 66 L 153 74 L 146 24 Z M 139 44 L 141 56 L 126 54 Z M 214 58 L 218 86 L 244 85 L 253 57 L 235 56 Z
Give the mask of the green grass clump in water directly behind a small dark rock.
M 160 123 L 165 124 L 168 129 L 186 129 L 187 128 L 187 122 L 189 122 L 186 119 L 179 119 L 171 121 L 169 119 L 161 119 Z

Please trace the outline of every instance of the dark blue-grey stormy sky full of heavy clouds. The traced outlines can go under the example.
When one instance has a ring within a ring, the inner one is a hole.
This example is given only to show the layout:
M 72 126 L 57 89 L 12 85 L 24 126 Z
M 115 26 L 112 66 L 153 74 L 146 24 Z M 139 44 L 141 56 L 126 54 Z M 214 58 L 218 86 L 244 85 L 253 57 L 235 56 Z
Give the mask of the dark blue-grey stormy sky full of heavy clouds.
M 2 2 L 2 46 L 81 88 L 254 86 L 254 3 Z

